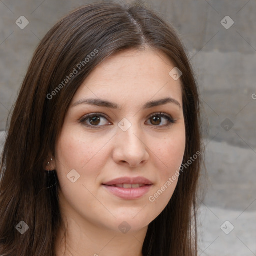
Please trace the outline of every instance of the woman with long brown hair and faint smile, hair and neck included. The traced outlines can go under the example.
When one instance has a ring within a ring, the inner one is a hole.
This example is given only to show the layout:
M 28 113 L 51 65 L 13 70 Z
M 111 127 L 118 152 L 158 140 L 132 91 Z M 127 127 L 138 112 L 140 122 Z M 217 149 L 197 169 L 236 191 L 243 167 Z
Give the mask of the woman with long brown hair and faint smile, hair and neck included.
M 102 2 L 37 47 L 1 159 L 1 255 L 196 255 L 196 81 L 151 9 Z

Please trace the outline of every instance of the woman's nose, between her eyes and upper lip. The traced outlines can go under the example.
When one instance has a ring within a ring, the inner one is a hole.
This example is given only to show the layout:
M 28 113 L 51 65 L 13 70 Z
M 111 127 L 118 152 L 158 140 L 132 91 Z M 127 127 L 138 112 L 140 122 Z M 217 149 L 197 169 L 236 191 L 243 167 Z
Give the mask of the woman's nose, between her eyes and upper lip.
M 126 131 L 118 127 L 113 142 L 113 159 L 117 164 L 126 164 L 134 168 L 148 161 L 149 147 L 138 124 L 132 123 Z

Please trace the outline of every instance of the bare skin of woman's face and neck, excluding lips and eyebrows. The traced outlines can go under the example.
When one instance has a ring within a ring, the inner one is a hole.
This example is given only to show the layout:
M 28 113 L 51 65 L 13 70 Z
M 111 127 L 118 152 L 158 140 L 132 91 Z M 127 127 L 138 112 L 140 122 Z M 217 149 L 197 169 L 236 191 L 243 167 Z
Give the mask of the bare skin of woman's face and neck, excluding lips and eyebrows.
M 50 163 L 57 171 L 61 214 L 68 225 L 66 255 L 142 256 L 148 224 L 165 208 L 178 179 L 154 202 L 149 196 L 179 169 L 185 150 L 181 81 L 169 75 L 174 67 L 160 51 L 128 49 L 100 63 L 74 95 Z M 180 107 L 166 103 L 142 109 L 146 102 L 167 96 Z M 121 109 L 73 106 L 85 98 L 106 99 Z M 175 123 L 166 126 L 165 117 L 157 121 L 149 116 L 157 112 L 171 115 Z M 104 113 L 107 119 L 79 122 L 89 113 Z M 118 126 L 123 118 L 131 124 L 126 131 Z M 67 178 L 72 169 L 80 175 L 74 183 Z M 140 198 L 121 199 L 102 183 L 122 176 L 142 176 L 153 185 Z M 123 221 L 130 227 L 127 233 L 118 228 Z M 62 236 L 61 228 L 57 256 L 64 252 Z

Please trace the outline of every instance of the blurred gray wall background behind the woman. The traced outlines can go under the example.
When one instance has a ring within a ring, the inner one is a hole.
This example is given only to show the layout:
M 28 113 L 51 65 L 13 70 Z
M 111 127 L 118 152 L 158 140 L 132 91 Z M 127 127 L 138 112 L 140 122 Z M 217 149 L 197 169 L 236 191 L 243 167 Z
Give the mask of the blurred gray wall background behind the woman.
M 1 131 L 40 39 L 68 11 L 90 2 L 0 0 Z M 198 78 L 209 176 L 200 255 L 256 255 L 256 1 L 143 2 L 177 29 Z M 20 16 L 29 21 L 24 29 L 15 23 Z M 4 132 L 0 138 L 2 146 Z

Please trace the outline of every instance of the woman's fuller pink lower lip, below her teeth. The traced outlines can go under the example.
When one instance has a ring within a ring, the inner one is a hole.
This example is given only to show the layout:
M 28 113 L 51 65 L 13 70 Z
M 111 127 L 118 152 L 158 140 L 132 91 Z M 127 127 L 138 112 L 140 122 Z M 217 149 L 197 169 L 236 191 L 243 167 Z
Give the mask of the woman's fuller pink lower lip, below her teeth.
M 117 186 L 103 185 L 112 194 L 126 200 L 137 199 L 145 195 L 152 185 L 145 185 L 138 188 L 122 188 Z

